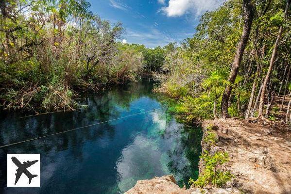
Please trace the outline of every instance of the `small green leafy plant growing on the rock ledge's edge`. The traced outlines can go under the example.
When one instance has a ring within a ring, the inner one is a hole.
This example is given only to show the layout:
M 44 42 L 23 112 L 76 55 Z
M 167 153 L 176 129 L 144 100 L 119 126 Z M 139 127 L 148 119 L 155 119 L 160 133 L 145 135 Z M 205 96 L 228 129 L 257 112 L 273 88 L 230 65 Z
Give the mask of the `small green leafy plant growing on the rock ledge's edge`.
M 205 162 L 204 172 L 195 181 L 190 178 L 189 184 L 203 188 L 211 183 L 215 187 L 221 187 L 234 177 L 229 171 L 218 169 L 220 165 L 228 162 L 229 157 L 227 152 L 216 152 L 210 155 L 205 151 L 200 158 Z

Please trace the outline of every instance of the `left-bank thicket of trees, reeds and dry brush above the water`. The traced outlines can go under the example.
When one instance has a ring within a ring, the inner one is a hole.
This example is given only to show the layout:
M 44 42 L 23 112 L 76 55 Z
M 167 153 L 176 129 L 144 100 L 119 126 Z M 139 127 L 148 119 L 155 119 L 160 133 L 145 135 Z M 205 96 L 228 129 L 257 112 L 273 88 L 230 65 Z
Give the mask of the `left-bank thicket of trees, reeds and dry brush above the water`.
M 121 23 L 93 15 L 85 0 L 0 2 L 0 92 L 4 108 L 71 110 L 82 91 L 133 80 L 143 54 L 123 47 Z

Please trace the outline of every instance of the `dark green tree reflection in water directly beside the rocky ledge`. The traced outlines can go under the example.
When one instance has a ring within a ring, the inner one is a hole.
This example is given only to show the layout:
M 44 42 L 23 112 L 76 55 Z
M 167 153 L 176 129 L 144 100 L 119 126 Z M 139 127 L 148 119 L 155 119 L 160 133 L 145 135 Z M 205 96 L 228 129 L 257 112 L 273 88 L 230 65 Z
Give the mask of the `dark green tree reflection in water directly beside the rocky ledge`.
M 167 167 L 175 175 L 180 186 L 183 186 L 183 183 L 187 185 L 189 177 L 195 178 L 199 173 L 202 130 L 187 128 L 183 124 L 176 123 L 175 119 L 167 122 L 166 130 L 168 131 L 165 133 L 165 138 L 171 139 L 172 142 L 171 149 L 167 150 L 170 158 Z

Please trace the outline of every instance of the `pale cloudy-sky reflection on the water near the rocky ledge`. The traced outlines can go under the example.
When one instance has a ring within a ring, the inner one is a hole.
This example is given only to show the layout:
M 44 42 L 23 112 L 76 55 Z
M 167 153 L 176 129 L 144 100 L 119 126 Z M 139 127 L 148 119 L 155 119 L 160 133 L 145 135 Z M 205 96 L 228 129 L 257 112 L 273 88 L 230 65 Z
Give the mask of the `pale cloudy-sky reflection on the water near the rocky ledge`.
M 166 115 L 159 111 L 149 113 L 152 126 L 143 129 L 146 133 L 137 133 L 134 141 L 121 151 L 116 162 L 120 191 L 133 187 L 136 180 L 154 176 L 174 174 L 177 180 L 183 181 L 185 172 L 180 169 L 191 165 L 182 145 L 183 125 L 173 118 L 168 121 Z

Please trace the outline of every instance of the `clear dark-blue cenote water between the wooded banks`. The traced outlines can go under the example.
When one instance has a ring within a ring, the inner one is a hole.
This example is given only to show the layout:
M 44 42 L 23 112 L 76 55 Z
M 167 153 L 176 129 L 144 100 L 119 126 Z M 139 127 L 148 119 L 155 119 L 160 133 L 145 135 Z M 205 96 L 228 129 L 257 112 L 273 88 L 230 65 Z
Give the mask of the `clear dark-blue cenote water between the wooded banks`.
M 187 185 L 198 176 L 202 132 L 178 123 L 167 97 L 152 89 L 142 79 L 86 95 L 88 107 L 74 112 L 1 113 L 0 146 L 103 123 L 0 148 L 0 192 L 119 194 L 137 180 L 169 174 Z M 7 153 L 40 153 L 40 187 L 7 187 Z

